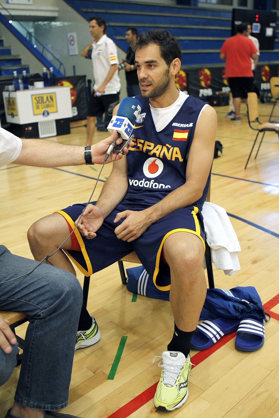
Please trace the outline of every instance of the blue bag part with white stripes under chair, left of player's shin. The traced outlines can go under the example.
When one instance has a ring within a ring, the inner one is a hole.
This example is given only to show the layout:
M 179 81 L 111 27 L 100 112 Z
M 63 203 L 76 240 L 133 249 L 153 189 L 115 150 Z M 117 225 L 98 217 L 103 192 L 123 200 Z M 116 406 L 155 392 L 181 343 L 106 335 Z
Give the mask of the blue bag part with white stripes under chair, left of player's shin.
M 148 296 L 149 298 L 169 301 L 169 291 L 157 289 L 152 277 L 149 276 L 142 265 L 127 268 L 126 272 L 128 275 L 127 289 L 129 292 L 138 293 L 138 295 Z

